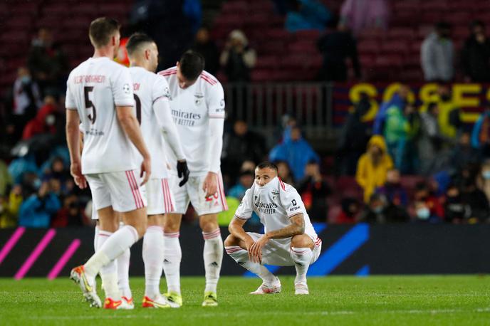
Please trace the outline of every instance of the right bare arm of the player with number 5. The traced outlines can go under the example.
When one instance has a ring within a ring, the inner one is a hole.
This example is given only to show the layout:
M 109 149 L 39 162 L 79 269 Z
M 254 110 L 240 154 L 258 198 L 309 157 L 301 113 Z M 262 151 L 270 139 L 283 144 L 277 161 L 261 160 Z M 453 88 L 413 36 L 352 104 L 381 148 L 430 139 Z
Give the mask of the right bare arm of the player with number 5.
M 143 135 L 141 134 L 140 125 L 137 122 L 135 115 L 132 112 L 132 107 L 130 106 L 117 106 L 116 112 L 118 112 L 118 120 L 123 127 L 124 132 L 130 141 L 135 145 L 138 152 L 143 157 L 143 162 L 141 163 L 141 174 L 140 177 L 145 176 L 141 185 L 145 184 L 148 179 L 150 179 L 150 174 L 152 173 L 150 152 L 146 147 L 145 141 L 143 140 Z

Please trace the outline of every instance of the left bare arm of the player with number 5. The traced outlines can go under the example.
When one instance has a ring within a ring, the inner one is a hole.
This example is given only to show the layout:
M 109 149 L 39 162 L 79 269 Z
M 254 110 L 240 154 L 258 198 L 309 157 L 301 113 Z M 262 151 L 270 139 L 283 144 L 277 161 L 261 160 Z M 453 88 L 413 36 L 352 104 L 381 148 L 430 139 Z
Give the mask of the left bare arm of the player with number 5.
M 75 180 L 75 184 L 80 189 L 87 187 L 87 181 L 82 174 L 82 164 L 80 155 L 80 117 L 77 110 L 68 108 L 66 110 L 66 142 L 70 151 L 71 167 L 70 172 Z

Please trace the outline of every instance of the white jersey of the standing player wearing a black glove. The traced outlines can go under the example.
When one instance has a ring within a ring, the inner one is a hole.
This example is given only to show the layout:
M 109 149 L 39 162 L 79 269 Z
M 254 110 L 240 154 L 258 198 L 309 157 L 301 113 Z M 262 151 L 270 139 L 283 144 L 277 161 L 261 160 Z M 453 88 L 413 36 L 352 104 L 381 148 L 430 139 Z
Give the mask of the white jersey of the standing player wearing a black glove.
M 157 123 L 153 103 L 157 100 L 169 100 L 168 83 L 162 76 L 151 73 L 145 68 L 131 67 L 130 73 L 135 93 L 136 117 L 152 156 L 151 178 L 165 179 L 168 177 L 165 139 Z

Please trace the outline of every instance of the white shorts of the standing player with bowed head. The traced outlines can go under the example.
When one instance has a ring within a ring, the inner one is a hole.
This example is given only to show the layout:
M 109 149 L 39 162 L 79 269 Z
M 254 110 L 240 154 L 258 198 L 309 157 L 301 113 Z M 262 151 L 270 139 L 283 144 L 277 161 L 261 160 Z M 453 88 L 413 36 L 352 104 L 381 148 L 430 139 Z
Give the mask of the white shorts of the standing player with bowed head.
M 217 214 L 221 211 L 227 211 L 226 198 L 224 196 L 223 178 L 221 172 L 218 172 L 218 191 L 214 196 L 206 198 L 204 190 L 202 190 L 202 184 L 204 184 L 206 175 L 199 177 L 189 177 L 184 186 L 179 186 L 179 179 L 174 174 L 170 174 L 169 182 L 170 189 L 175 199 L 175 210 L 173 213 L 185 214 L 189 201 L 197 212 L 198 216 L 205 214 Z

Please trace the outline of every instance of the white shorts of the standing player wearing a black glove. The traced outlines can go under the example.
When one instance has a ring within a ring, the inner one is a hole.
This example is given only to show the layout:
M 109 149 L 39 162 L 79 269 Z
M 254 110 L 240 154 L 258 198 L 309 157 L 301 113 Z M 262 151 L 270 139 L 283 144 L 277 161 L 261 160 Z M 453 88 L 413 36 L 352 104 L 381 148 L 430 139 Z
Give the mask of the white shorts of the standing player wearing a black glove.
M 168 179 L 150 179 L 146 186 L 148 215 L 160 215 L 170 213 L 174 210 L 174 196 L 170 191 Z

